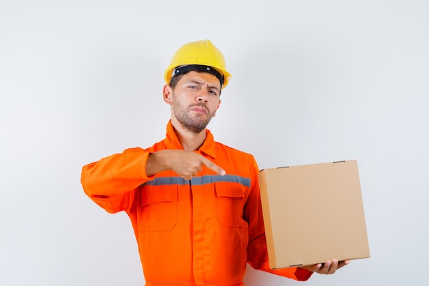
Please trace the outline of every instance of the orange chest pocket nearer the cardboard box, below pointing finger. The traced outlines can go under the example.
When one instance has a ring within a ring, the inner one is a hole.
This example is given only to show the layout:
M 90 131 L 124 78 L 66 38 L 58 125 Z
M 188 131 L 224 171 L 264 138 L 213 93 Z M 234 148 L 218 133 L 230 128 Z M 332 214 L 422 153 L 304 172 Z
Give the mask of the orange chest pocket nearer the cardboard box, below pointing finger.
M 215 183 L 216 219 L 222 226 L 245 227 L 243 219 L 245 205 L 245 187 L 241 184 Z

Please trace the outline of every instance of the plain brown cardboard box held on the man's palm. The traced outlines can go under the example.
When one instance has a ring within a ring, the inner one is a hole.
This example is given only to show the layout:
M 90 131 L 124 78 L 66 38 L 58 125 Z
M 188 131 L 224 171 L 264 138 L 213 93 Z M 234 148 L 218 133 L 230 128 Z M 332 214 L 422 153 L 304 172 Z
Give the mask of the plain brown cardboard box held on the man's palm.
M 259 173 L 272 269 L 369 257 L 356 160 Z

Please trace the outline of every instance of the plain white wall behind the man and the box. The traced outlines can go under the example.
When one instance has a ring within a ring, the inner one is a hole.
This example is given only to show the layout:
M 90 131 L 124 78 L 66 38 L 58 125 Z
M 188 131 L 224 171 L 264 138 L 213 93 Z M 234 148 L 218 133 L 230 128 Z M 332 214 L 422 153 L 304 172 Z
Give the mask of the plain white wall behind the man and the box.
M 0 285 L 143 285 L 126 215 L 86 198 L 80 170 L 164 137 L 164 68 L 204 38 L 234 76 L 217 141 L 261 169 L 358 159 L 371 258 L 305 284 L 428 285 L 428 15 L 425 0 L 1 1 Z

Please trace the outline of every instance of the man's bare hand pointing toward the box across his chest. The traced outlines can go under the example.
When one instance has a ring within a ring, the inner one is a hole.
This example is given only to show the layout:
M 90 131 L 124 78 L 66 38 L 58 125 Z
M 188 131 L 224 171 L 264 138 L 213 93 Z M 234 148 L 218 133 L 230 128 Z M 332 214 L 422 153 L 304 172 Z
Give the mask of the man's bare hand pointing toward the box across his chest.
M 186 180 L 196 176 L 202 167 L 206 166 L 219 175 L 225 175 L 225 170 L 197 152 L 184 150 L 161 150 L 149 154 L 146 163 L 146 175 L 152 176 L 161 171 L 172 170 Z

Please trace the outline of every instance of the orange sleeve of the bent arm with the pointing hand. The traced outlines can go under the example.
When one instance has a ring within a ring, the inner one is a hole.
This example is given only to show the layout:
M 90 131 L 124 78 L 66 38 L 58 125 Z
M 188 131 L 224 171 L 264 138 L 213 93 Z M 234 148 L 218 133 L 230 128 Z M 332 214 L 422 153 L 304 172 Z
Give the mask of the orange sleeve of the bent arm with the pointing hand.
M 145 171 L 148 156 L 148 151 L 134 148 L 85 165 L 81 174 L 84 192 L 108 213 L 130 212 L 136 188 L 151 180 Z

